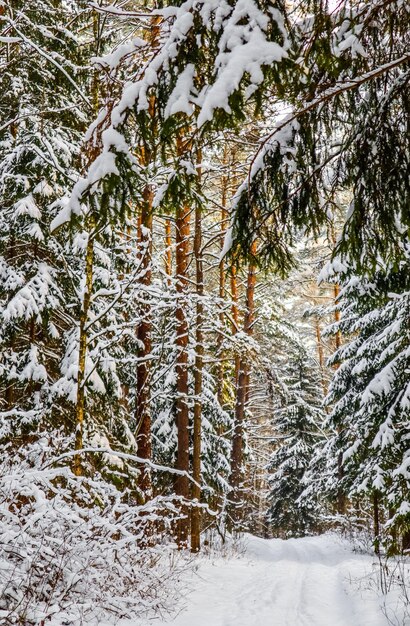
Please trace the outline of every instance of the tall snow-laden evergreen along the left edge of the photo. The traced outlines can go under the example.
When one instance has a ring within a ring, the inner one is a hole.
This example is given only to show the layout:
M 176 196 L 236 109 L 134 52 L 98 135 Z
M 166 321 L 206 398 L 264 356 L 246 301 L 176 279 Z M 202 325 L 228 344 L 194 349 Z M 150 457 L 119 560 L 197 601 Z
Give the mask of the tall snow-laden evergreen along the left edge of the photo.
M 16 433 L 49 420 L 61 341 L 72 323 L 66 303 L 78 264 L 50 224 L 76 174 L 88 107 L 74 78 L 82 42 L 66 28 L 79 9 L 16 1 L 0 15 L 1 386 Z

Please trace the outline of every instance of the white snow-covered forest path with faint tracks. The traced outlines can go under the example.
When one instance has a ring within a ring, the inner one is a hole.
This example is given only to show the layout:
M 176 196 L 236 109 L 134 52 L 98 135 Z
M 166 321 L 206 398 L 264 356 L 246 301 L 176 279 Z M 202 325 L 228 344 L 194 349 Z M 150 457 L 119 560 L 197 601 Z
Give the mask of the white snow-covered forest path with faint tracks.
M 398 593 L 378 591 L 377 570 L 374 557 L 353 552 L 337 536 L 287 541 L 247 536 L 239 556 L 199 557 L 195 574 L 187 574 L 191 591 L 180 613 L 149 624 L 410 625 Z

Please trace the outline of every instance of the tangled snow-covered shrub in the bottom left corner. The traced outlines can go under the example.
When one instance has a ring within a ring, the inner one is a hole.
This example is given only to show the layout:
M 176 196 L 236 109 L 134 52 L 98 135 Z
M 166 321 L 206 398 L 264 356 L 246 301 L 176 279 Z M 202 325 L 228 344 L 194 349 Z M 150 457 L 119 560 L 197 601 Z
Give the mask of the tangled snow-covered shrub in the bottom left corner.
M 54 467 L 46 447 L 5 455 L 0 469 L 0 622 L 114 624 L 173 609 L 186 563 L 164 538 L 144 540 L 167 527 L 172 502 L 128 505 L 99 477 Z

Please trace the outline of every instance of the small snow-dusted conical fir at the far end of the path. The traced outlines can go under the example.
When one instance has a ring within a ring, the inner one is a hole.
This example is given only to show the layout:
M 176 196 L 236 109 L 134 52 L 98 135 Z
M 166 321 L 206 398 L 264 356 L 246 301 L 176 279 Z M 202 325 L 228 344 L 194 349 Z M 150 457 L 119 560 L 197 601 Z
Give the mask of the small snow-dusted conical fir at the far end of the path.
M 320 528 L 318 494 L 306 497 L 311 462 L 323 445 L 320 372 L 297 331 L 283 324 L 278 331 L 267 521 L 276 532 L 303 536 Z

